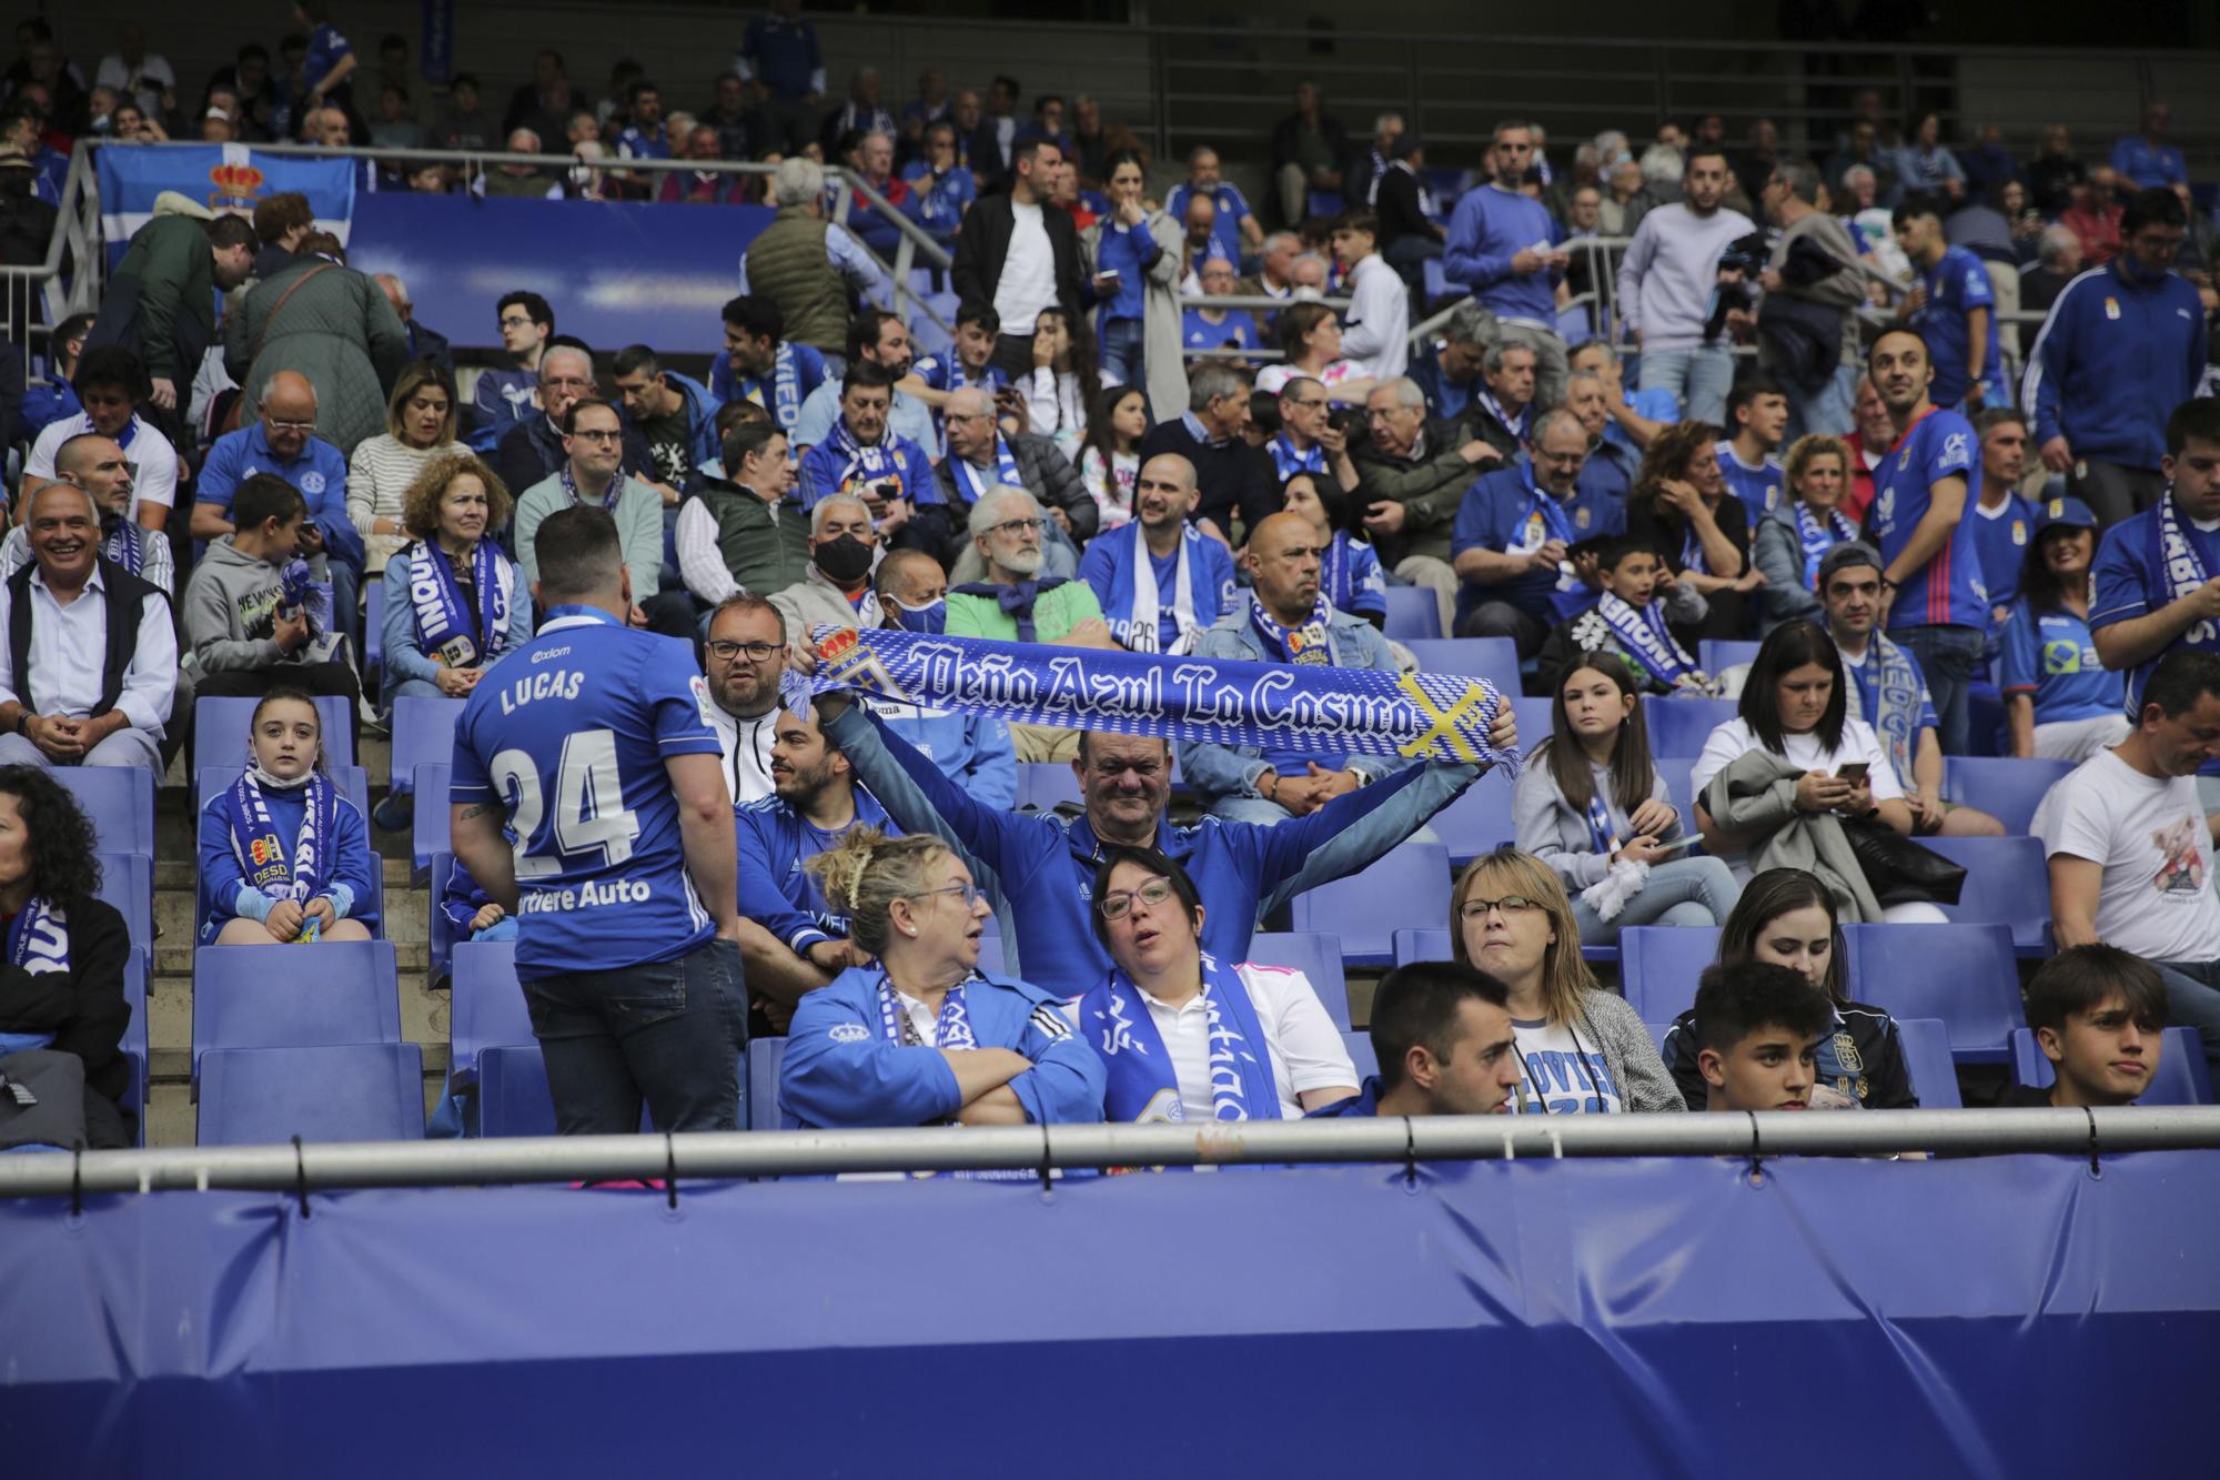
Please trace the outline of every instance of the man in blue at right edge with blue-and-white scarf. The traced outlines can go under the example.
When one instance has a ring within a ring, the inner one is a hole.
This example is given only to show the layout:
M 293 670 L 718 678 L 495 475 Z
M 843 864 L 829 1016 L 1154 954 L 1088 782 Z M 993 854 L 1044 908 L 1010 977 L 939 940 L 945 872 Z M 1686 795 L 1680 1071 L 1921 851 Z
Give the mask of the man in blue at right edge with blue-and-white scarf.
M 2220 400 L 2173 409 L 2160 471 L 2167 496 L 2105 531 L 2091 573 L 2089 631 L 2105 667 L 2129 671 L 2129 720 L 2160 658 L 2220 651 Z M 2198 796 L 2220 809 L 2220 760 L 2198 771 Z

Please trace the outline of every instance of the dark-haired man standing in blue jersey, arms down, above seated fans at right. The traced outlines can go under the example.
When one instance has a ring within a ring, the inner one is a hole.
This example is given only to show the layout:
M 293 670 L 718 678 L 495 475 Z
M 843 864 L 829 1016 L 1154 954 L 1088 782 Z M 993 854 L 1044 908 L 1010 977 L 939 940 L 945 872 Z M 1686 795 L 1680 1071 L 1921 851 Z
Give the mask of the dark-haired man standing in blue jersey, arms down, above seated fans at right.
M 1874 469 L 1867 524 L 1887 562 L 1889 636 L 1918 658 L 1936 700 L 1945 756 L 1965 756 L 1974 664 L 1989 631 L 1989 591 L 1980 549 L 1965 518 L 1980 498 L 1980 442 L 1958 411 L 1927 398 L 1934 364 L 1927 342 L 1889 329 L 1867 356 L 1874 389 L 1889 411 L 1896 447 Z

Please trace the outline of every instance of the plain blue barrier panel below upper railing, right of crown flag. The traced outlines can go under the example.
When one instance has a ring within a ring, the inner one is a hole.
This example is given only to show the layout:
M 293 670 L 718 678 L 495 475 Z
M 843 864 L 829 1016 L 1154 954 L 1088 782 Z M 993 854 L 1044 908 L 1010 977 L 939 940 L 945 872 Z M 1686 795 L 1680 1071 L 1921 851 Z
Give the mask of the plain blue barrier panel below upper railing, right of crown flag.
M 497 347 L 493 304 L 526 291 L 553 304 L 557 333 L 602 353 L 626 344 L 713 353 L 724 344 L 717 309 L 739 293 L 739 258 L 770 216 L 768 207 L 377 191 L 355 202 L 346 262 L 402 278 L 417 322 L 457 347 Z

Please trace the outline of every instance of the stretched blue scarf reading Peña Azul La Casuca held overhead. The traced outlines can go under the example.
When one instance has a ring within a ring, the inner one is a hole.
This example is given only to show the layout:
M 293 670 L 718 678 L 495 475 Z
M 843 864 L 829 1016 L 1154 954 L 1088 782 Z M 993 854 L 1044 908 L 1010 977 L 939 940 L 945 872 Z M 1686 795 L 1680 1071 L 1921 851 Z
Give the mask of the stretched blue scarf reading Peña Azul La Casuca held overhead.
M 819 627 L 815 636 L 817 671 L 801 680 L 788 669 L 790 702 L 861 689 L 904 704 L 1057 729 L 1312 756 L 1518 764 L 1516 751 L 1487 744 L 1487 727 L 1505 700 L 1476 678 L 928 638 L 884 627 Z

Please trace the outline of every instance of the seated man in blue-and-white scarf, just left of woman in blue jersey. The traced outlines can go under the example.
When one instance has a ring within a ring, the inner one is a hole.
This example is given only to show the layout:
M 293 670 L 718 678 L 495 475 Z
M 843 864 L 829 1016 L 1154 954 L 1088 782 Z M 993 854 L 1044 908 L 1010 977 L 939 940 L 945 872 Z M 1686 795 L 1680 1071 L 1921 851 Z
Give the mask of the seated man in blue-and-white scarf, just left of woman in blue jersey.
M 1874 727 L 1923 838 L 2002 838 L 2005 824 L 1985 811 L 1943 800 L 1943 742 L 1936 704 L 1918 660 L 1880 631 L 1880 556 L 1871 544 L 1836 544 L 1818 562 L 1818 600 L 1827 636 L 1849 676 L 1849 718 Z

